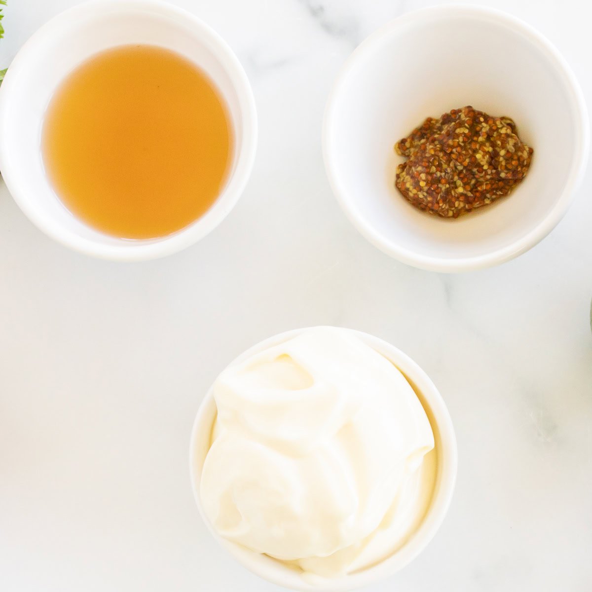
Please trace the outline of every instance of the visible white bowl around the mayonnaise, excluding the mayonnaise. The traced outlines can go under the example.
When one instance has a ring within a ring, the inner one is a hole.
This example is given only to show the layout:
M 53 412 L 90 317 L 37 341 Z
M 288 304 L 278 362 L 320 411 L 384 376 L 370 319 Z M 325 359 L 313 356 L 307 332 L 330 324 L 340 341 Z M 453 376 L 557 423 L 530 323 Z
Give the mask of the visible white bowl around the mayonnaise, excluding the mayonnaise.
M 244 361 L 255 353 L 292 339 L 306 330 L 295 329 L 270 337 L 242 353 L 230 363 L 230 366 Z M 437 452 L 437 475 L 432 502 L 419 528 L 399 551 L 367 570 L 346 575 L 339 579 L 325 580 L 323 584 L 312 584 L 304 580 L 299 571 L 286 567 L 282 562 L 221 538 L 205 516 L 200 498 L 201 472 L 205 456 L 210 449 L 211 433 L 217 413 L 211 388 L 206 393 L 197 412 L 191 434 L 191 446 L 189 448 L 191 484 L 195 502 L 208 529 L 218 543 L 248 570 L 273 584 L 291 588 L 292 590 L 343 592 L 384 580 L 384 578 L 401 570 L 423 551 L 427 543 L 436 534 L 437 529 L 444 520 L 446 511 L 448 511 L 454 490 L 458 462 L 456 437 L 448 409 L 433 382 L 411 358 L 390 345 L 390 343 L 353 329 L 344 330 L 355 334 L 358 339 L 377 350 L 403 372 L 422 402 L 434 432 Z

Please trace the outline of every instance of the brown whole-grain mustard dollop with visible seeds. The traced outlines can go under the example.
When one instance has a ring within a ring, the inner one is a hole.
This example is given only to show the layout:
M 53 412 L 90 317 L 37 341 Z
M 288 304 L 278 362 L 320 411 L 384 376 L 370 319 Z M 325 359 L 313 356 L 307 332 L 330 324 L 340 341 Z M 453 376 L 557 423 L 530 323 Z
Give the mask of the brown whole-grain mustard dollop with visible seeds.
M 407 156 L 395 186 L 412 205 L 458 218 L 509 195 L 525 178 L 533 150 L 517 136 L 509 117 L 472 107 L 428 117 L 395 144 Z

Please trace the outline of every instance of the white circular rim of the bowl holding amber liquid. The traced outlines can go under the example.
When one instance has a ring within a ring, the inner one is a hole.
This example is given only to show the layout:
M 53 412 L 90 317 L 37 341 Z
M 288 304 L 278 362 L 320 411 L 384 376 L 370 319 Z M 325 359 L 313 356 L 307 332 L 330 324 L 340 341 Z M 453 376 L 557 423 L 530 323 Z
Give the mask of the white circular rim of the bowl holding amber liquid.
M 236 94 L 242 129 L 239 144 L 235 147 L 236 164 L 234 170 L 217 200 L 202 217 L 168 236 L 129 241 L 123 239 L 125 243 L 102 244 L 92 237 L 82 237 L 75 231 L 65 229 L 63 224 L 54 220 L 53 216 L 41 212 L 37 207 L 36 200 L 31 199 L 27 192 L 22 191 L 20 183 L 22 177 L 13 174 L 11 167 L 10 139 L 6 134 L 0 134 L 0 168 L 5 184 L 18 207 L 38 229 L 56 242 L 99 259 L 120 261 L 157 259 L 179 252 L 201 240 L 226 218 L 239 201 L 255 162 L 258 137 L 255 97 L 243 66 L 229 44 L 210 25 L 191 12 L 163 0 L 89 0 L 55 15 L 41 25 L 22 45 L 2 82 L 0 127 L 5 127 L 11 116 L 11 106 L 14 104 L 12 94 L 18 84 L 18 76 L 22 70 L 26 71 L 31 64 L 44 59 L 44 46 L 48 40 L 55 37 L 54 30 L 68 22 L 73 30 L 81 26 L 94 26 L 94 22 L 100 20 L 107 10 L 111 14 L 150 11 L 157 18 L 161 18 L 163 23 L 166 23 L 168 18 L 184 21 L 189 25 L 188 30 L 191 31 L 192 36 L 207 42 L 215 59 L 229 77 Z M 73 22 L 75 24 L 72 24 Z

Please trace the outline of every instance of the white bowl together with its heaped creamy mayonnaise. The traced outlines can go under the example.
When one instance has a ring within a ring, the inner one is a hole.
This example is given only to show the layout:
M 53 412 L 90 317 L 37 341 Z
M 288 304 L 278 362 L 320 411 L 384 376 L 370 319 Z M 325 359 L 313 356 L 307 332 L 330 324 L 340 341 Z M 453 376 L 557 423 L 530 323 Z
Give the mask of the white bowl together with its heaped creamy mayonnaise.
M 294 590 L 352 590 L 407 565 L 456 477 L 448 410 L 403 352 L 349 329 L 271 337 L 218 376 L 191 437 L 214 537 Z

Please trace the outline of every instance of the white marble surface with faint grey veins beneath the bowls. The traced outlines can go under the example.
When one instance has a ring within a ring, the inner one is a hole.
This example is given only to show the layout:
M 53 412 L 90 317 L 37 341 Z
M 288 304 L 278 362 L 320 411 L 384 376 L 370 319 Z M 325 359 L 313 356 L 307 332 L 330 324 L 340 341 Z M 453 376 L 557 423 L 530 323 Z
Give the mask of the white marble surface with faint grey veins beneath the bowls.
M 9 0 L 0 64 L 72 4 Z M 592 169 L 564 221 L 519 259 L 464 275 L 407 267 L 339 210 L 320 128 L 356 44 L 433 2 L 177 4 L 217 29 L 247 70 L 255 169 L 207 239 L 132 265 L 53 243 L 0 185 L 0 590 L 279 590 L 208 535 L 189 486 L 189 432 L 231 358 L 314 324 L 406 351 L 456 426 L 448 518 L 420 558 L 371 590 L 591 590 Z M 589 5 L 487 4 L 554 41 L 592 104 Z

